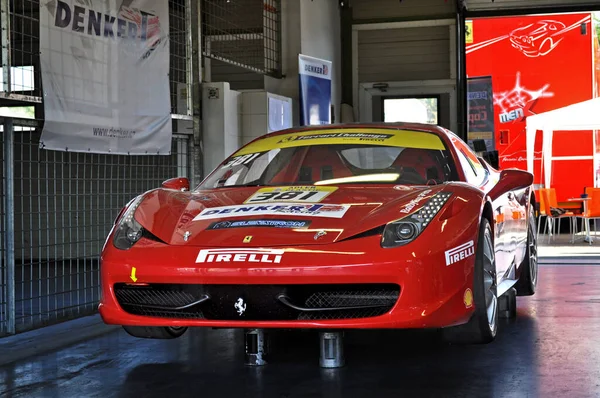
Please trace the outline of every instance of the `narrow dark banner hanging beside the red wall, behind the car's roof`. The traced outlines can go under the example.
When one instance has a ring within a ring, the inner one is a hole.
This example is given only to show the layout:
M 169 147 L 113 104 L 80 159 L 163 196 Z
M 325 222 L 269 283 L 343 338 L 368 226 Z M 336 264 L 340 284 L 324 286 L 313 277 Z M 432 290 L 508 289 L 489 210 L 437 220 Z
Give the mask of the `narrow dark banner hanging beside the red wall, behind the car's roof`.
M 467 79 L 467 106 L 469 115 L 469 144 L 483 140 L 487 151 L 496 150 L 494 139 L 494 96 L 492 78 Z

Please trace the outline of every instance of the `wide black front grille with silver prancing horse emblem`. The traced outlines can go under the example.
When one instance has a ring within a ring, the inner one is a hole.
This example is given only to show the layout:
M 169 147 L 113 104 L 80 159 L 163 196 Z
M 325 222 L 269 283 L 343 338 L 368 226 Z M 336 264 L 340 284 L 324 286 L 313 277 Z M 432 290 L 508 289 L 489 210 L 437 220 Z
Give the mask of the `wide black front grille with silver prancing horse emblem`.
M 400 295 L 400 287 L 395 284 L 138 286 L 122 283 L 114 289 L 119 305 L 134 315 L 231 321 L 368 318 L 390 311 Z

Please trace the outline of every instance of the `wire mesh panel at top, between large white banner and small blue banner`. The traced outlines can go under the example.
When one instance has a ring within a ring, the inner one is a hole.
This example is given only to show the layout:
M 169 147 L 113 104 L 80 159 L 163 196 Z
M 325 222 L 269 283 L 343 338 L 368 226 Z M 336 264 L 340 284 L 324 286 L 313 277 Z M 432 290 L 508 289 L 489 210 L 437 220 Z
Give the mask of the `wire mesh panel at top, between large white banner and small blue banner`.
M 203 0 L 203 54 L 281 77 L 280 0 Z

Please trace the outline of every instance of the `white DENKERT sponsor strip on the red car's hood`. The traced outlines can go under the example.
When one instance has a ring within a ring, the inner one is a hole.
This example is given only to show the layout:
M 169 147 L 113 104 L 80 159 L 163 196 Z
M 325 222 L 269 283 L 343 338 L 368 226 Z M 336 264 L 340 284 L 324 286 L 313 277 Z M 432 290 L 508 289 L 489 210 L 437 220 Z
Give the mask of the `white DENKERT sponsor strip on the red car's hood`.
M 208 207 L 194 221 L 211 220 L 215 218 L 266 216 L 288 214 L 304 217 L 342 218 L 350 205 L 338 204 L 301 204 L 301 203 L 269 203 L 246 204 L 221 207 Z

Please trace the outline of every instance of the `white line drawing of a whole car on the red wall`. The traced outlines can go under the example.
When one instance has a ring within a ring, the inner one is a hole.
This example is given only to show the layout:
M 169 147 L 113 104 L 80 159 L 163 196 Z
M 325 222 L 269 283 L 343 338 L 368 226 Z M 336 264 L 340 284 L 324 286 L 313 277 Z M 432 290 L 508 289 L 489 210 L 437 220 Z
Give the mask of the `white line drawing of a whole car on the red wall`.
M 528 57 L 548 54 L 564 39 L 568 31 L 560 21 L 543 20 L 510 32 L 512 46 Z

